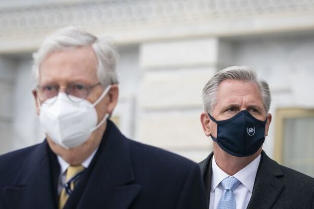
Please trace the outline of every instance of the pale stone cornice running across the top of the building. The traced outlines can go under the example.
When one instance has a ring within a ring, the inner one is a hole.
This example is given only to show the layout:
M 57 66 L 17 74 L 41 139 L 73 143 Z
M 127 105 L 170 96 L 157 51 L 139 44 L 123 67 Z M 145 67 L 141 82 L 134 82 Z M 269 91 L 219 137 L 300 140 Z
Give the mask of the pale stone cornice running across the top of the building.
M 75 25 L 117 44 L 199 36 L 314 29 L 314 1 L 49 1 L 0 7 L 0 53 L 32 51 L 57 28 Z

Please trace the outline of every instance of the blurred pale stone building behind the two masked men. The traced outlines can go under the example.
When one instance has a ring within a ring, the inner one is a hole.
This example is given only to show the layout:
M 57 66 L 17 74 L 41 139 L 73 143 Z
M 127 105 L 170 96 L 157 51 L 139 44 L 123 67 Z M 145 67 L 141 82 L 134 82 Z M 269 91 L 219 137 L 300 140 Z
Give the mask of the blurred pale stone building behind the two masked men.
M 314 177 L 314 0 L 2 0 L 0 153 L 43 141 L 31 55 L 67 25 L 115 39 L 113 120 L 126 136 L 202 160 L 212 150 L 202 88 L 226 66 L 249 65 L 272 92 L 264 150 Z

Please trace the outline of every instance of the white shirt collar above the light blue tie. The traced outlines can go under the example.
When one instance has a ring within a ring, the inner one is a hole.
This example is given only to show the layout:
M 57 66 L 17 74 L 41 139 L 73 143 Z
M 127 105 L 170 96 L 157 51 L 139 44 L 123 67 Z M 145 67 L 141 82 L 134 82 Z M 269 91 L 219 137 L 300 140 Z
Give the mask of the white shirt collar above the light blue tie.
M 251 193 L 253 191 L 255 176 L 257 173 L 260 158 L 261 158 L 261 155 L 259 154 L 258 157 L 256 157 L 252 162 L 250 162 L 247 166 L 245 166 L 238 173 L 233 175 L 233 177 L 237 178 Z M 229 175 L 226 174 L 224 171 L 222 171 L 218 167 L 215 161 L 215 155 L 213 155 L 213 159 L 212 159 L 212 170 L 213 170 L 213 176 L 212 176 L 211 191 L 214 192 L 214 190 L 217 188 L 220 182 L 224 180 L 225 178 L 229 177 Z

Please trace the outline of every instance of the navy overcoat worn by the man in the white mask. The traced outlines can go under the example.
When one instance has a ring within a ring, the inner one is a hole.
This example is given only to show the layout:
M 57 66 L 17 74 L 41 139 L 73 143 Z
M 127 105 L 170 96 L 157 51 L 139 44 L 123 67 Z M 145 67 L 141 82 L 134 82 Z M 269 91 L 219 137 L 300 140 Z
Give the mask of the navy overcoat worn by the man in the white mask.
M 59 164 L 47 141 L 0 156 L 0 208 L 57 208 Z M 198 164 L 127 139 L 108 121 L 68 208 L 207 208 Z

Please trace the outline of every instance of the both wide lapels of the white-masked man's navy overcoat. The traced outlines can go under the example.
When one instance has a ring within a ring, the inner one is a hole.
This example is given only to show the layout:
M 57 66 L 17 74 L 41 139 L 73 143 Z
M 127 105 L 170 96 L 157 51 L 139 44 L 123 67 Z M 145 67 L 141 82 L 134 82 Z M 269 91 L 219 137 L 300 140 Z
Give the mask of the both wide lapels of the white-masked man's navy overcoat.
M 137 197 L 140 186 L 134 183 L 129 140 L 109 120 L 104 138 L 105 143 L 99 147 L 64 209 L 126 209 Z M 57 208 L 48 150 L 46 141 L 37 145 L 15 183 L 4 188 L 10 208 Z

